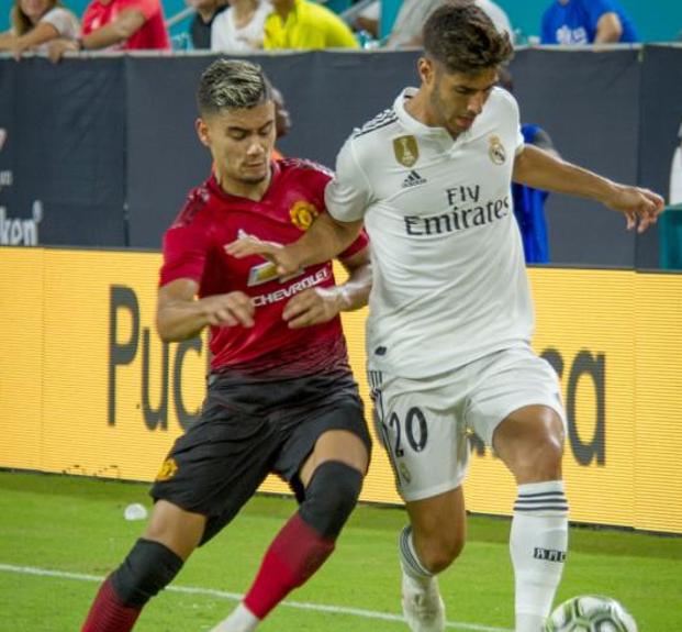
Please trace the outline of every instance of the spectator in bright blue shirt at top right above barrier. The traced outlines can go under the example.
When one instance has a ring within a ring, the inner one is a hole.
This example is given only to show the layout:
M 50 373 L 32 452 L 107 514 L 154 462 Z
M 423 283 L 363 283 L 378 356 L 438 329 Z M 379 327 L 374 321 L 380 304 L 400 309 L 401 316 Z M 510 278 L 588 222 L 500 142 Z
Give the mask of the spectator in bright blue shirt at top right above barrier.
M 543 15 L 541 44 L 638 41 L 633 21 L 615 0 L 552 0 Z

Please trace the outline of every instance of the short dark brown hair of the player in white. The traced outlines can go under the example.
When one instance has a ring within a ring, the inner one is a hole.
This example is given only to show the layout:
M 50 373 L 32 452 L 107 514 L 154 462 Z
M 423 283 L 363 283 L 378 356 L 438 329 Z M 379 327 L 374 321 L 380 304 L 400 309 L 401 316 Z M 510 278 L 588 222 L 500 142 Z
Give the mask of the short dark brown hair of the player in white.
M 514 46 L 472 0 L 449 0 L 424 24 L 424 52 L 448 73 L 479 73 L 507 62 Z

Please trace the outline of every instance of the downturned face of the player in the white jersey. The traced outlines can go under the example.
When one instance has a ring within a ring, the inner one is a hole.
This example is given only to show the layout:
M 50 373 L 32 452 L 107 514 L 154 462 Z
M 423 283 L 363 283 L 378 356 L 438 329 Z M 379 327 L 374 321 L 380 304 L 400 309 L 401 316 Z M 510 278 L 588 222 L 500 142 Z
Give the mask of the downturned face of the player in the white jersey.
M 445 127 L 452 137 L 466 132 L 483 111 L 497 82 L 496 68 L 474 74 L 447 73 L 437 63 L 425 60 L 422 69 L 424 88 L 428 95 L 433 123 Z

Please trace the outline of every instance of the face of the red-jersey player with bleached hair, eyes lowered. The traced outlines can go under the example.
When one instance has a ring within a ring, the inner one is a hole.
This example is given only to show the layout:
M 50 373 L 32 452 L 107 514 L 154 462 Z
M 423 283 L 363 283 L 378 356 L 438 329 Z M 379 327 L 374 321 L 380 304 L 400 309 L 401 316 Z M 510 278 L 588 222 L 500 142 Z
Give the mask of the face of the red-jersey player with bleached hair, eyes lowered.
M 211 151 L 221 185 L 259 185 L 268 179 L 275 145 L 272 101 L 199 119 L 197 132 Z

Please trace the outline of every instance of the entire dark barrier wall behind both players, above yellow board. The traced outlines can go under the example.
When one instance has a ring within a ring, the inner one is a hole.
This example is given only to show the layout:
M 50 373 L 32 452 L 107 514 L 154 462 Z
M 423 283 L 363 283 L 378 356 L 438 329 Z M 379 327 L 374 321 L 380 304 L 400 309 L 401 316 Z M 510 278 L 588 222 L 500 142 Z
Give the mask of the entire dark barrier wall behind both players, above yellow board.
M 404 86 L 418 84 L 417 57 L 315 52 L 250 58 L 291 111 L 293 129 L 279 148 L 333 167 L 354 127 L 390 107 Z M 209 174 L 210 156 L 194 132 L 194 91 L 213 58 L 99 57 L 57 66 L 0 59 L 4 217 L 30 220 L 37 200 L 42 244 L 160 247 L 188 190 Z M 545 127 L 566 159 L 668 193 L 682 122 L 682 49 L 524 49 L 512 69 L 522 121 Z M 656 231 L 638 239 L 599 204 L 552 195 L 548 220 L 552 263 L 658 265 Z

